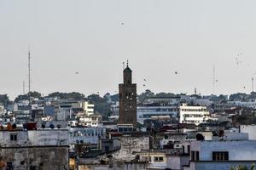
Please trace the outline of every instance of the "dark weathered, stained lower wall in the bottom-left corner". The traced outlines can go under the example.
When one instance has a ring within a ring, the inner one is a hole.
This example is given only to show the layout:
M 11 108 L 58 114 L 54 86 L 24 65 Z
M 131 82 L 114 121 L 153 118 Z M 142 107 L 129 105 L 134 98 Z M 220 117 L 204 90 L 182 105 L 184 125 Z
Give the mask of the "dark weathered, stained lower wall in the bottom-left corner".
M 13 170 L 67 170 L 68 146 L 1 148 L 0 159 L 3 169 L 11 164 Z

